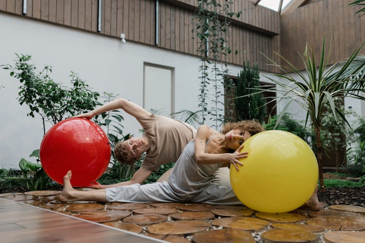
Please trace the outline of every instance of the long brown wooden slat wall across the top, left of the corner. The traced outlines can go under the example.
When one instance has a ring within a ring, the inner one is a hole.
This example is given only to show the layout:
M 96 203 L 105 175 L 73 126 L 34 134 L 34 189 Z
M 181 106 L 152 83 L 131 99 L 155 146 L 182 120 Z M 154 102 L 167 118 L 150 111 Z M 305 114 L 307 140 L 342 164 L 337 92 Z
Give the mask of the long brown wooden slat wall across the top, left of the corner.
M 22 16 L 22 2 L 0 0 L 0 11 Z M 159 1 L 158 47 L 198 54 L 198 38 L 192 38 L 196 4 L 197 0 Z M 271 56 L 280 50 L 279 14 L 249 0 L 233 1 L 231 7 L 242 15 L 231 26 L 228 62 L 241 65 L 249 60 L 262 70 L 276 71 L 266 65 L 260 52 Z M 27 0 L 25 17 L 97 33 L 97 9 L 98 0 Z M 119 37 L 124 33 L 128 41 L 155 45 L 155 0 L 102 0 L 101 10 L 101 34 Z

